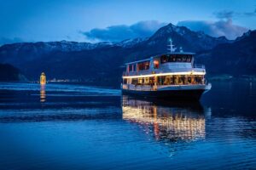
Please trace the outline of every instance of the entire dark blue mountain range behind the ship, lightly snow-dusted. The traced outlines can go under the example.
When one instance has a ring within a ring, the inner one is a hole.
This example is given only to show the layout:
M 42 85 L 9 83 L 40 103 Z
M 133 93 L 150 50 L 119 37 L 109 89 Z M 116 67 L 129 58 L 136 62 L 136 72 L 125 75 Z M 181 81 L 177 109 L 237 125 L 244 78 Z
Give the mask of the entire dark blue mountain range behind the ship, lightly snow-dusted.
M 172 24 L 161 27 L 151 37 L 122 42 L 6 44 L 0 47 L 0 63 L 14 65 L 30 80 L 38 80 L 44 71 L 49 79 L 118 84 L 125 62 L 166 53 L 170 37 L 177 48 L 195 52 L 196 63 L 207 65 L 209 76 L 256 73 L 256 31 L 248 31 L 230 41 L 225 37 L 210 37 L 204 32 Z

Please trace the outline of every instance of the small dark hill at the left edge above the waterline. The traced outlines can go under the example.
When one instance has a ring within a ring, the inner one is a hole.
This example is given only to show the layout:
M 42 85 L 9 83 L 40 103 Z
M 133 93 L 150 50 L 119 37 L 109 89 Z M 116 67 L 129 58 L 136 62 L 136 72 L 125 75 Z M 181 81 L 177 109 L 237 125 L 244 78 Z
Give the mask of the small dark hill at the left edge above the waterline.
M 0 81 L 26 81 L 26 77 L 13 65 L 0 64 Z

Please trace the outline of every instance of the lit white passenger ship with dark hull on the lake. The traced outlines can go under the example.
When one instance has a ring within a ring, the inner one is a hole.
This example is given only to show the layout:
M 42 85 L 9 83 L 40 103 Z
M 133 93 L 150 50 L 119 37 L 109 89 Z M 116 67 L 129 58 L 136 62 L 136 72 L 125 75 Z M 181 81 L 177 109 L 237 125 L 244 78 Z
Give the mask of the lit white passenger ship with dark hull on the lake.
M 195 53 L 183 52 L 170 40 L 169 53 L 125 64 L 123 94 L 145 98 L 200 99 L 212 88 L 204 65 L 195 65 Z

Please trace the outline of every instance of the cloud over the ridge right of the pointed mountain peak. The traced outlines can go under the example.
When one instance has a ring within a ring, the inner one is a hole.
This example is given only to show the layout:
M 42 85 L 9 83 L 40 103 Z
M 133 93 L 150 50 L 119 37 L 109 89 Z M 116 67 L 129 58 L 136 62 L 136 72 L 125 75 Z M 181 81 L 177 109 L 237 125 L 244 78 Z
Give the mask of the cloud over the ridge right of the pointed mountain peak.
M 216 22 L 206 20 L 184 20 L 178 22 L 177 26 L 186 26 L 192 31 L 204 31 L 212 37 L 224 36 L 228 39 L 236 39 L 236 37 L 239 37 L 244 32 L 248 31 L 245 27 L 234 25 L 231 19 L 219 20 Z

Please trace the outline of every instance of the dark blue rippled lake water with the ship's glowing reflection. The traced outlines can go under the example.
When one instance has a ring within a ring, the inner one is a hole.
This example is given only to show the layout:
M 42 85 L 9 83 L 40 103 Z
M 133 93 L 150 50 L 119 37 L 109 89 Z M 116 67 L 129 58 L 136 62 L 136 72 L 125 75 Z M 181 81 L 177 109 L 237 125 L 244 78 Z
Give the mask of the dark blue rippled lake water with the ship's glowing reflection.
M 213 82 L 193 103 L 0 84 L 1 170 L 255 167 L 255 82 Z

